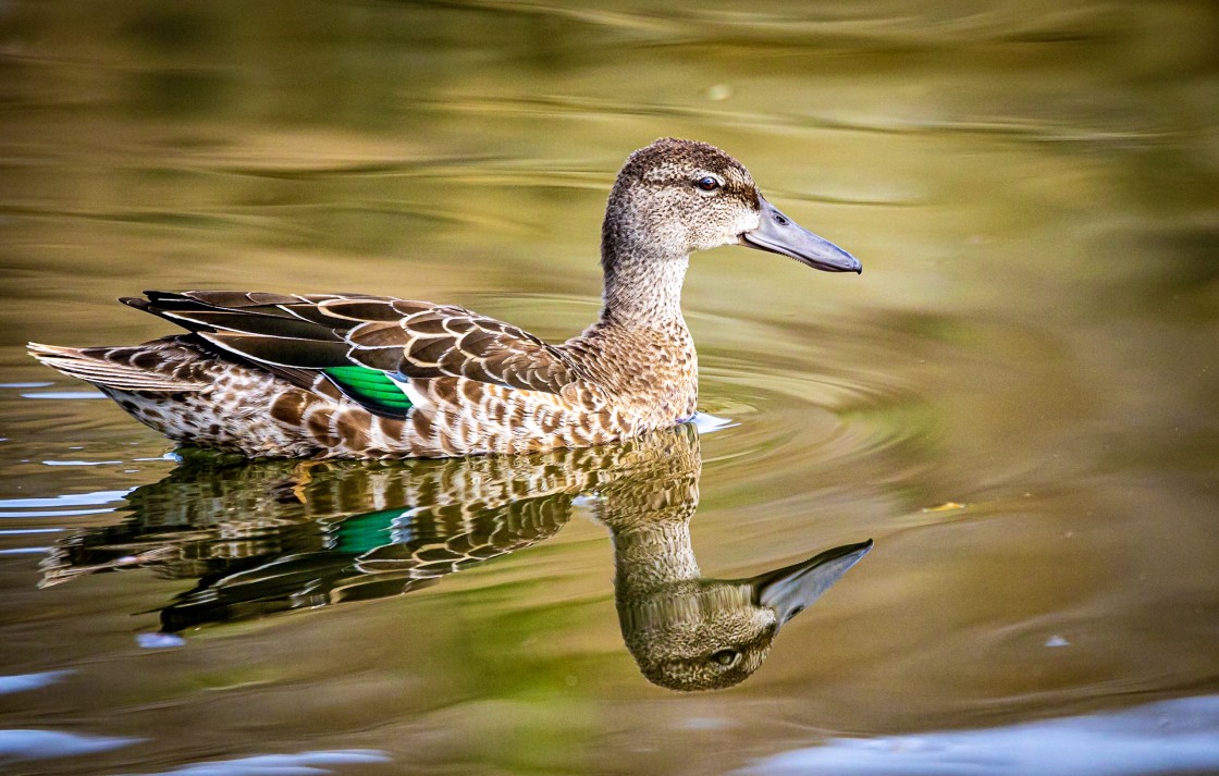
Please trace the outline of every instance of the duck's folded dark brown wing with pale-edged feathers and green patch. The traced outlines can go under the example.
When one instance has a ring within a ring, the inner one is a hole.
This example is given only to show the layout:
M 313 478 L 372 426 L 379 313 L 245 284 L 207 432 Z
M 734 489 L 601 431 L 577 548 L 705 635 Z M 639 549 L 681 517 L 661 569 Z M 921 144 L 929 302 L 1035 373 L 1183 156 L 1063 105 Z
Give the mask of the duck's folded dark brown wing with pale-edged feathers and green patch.
M 463 307 L 351 294 L 146 291 L 123 303 L 194 331 L 206 342 L 308 386 L 323 372 L 382 414 L 391 379 L 467 378 L 558 393 L 579 378 L 566 353 Z M 388 376 L 386 376 L 388 375 Z M 390 402 L 394 404 L 394 402 Z

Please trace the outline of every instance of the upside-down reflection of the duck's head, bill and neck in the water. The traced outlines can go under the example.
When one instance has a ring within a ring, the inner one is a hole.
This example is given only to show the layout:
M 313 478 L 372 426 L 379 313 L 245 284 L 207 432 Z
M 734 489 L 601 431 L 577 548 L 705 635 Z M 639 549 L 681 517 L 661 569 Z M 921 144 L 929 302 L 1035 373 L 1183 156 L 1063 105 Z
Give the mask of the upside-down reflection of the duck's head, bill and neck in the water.
M 702 579 L 690 543 L 702 462 L 696 436 L 674 436 L 635 475 L 599 491 L 613 531 L 614 592 L 628 649 L 649 681 L 670 690 L 730 687 L 756 671 L 779 629 L 872 548 L 825 551 L 742 580 Z

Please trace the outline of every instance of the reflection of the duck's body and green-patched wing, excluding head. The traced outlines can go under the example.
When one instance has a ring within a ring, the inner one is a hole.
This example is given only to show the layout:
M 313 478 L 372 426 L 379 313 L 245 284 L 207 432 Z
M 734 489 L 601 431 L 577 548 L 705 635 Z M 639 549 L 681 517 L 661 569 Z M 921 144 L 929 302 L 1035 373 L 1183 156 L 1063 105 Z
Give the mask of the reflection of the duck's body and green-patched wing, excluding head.
M 405 464 L 199 460 L 127 496 L 119 523 L 56 541 L 41 586 L 135 566 L 201 577 L 165 630 L 418 588 L 529 547 L 597 492 L 616 530 L 689 519 L 701 465 L 689 425 L 622 445 Z M 663 492 L 663 497 L 657 495 Z M 374 510 L 369 510 L 374 509 Z

